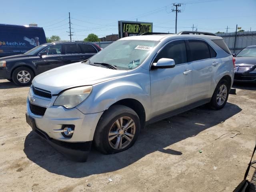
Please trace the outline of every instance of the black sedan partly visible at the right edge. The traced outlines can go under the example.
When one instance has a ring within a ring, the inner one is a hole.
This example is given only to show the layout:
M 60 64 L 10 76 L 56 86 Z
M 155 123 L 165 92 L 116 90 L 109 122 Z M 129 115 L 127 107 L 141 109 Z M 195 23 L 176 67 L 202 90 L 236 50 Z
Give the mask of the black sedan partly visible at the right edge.
M 235 58 L 234 82 L 256 83 L 256 45 L 242 49 Z

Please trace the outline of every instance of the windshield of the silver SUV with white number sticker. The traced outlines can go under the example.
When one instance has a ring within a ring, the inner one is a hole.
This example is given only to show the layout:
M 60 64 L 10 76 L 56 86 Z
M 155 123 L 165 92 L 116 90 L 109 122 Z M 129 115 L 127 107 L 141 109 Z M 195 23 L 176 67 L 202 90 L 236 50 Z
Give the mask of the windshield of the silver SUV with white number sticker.
M 86 61 L 86 64 L 107 63 L 118 70 L 136 68 L 148 57 L 159 41 L 119 40 L 116 41 Z

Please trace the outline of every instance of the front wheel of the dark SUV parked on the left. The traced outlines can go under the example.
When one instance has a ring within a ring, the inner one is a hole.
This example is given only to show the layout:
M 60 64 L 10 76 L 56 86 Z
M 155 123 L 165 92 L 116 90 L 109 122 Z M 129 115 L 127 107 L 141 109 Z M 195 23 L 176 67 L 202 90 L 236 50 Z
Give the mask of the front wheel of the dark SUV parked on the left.
M 30 85 L 33 78 L 34 72 L 27 67 L 16 68 L 12 73 L 12 80 L 18 86 Z

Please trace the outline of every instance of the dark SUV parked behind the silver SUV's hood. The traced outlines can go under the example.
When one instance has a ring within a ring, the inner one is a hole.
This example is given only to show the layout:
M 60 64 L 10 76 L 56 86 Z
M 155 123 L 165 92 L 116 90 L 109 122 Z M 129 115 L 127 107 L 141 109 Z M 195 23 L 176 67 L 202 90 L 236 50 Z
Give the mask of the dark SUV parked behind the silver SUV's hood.
M 96 44 L 89 42 L 42 44 L 24 54 L 0 58 L 0 78 L 25 86 L 42 72 L 86 60 L 100 50 Z

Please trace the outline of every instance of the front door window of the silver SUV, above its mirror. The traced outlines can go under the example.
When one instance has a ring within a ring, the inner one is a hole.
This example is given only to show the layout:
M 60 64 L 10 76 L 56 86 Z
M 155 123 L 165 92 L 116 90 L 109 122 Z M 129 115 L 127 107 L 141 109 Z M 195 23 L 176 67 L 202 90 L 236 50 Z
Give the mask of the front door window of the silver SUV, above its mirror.
M 178 41 L 170 42 L 156 56 L 154 63 L 156 63 L 161 58 L 173 59 L 176 65 L 186 63 L 187 52 L 186 52 L 185 41 L 178 40 Z

